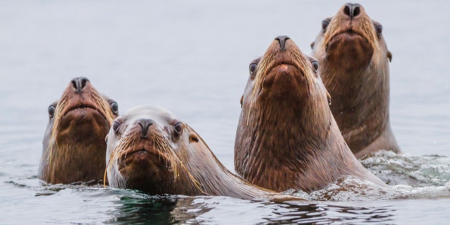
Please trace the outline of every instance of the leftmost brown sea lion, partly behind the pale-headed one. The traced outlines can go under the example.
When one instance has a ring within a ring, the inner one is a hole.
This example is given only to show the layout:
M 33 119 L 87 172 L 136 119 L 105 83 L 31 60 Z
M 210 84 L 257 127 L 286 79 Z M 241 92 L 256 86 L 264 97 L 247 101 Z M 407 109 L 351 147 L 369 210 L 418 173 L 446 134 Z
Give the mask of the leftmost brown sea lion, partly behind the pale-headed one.
M 38 178 L 50 184 L 103 179 L 105 136 L 117 115 L 117 103 L 89 79 L 72 79 L 49 106 Z

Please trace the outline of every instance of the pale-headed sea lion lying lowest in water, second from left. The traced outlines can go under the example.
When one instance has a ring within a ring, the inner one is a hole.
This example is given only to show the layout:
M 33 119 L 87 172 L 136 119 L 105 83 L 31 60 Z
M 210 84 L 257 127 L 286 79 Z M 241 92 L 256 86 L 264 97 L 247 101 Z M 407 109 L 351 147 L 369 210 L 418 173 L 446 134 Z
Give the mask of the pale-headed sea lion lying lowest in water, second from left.
M 155 105 L 117 117 L 106 138 L 106 174 L 113 188 L 149 194 L 225 195 L 249 200 L 300 200 L 232 174 L 188 124 Z

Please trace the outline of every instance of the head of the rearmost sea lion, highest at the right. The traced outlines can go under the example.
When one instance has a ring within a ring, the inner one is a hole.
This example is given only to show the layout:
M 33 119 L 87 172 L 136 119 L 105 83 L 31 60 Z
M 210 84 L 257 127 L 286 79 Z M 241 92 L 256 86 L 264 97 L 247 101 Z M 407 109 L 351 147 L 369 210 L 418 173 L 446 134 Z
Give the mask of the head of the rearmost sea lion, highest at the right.
M 334 70 L 357 74 L 371 64 L 392 59 L 382 31 L 383 26 L 371 20 L 361 5 L 345 4 L 333 18 L 322 21 L 322 30 L 311 47 L 319 62 L 328 60 L 339 65 Z

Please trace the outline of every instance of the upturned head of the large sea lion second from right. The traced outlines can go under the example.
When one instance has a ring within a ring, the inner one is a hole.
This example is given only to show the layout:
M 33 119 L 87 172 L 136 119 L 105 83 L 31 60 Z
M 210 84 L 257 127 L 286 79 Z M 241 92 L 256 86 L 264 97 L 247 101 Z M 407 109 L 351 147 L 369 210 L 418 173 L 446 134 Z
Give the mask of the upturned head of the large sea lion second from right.
M 262 58 L 250 63 L 250 77 L 241 99 L 241 119 L 250 119 L 253 108 L 259 108 L 254 112 L 283 112 L 299 118 L 304 114 L 322 115 L 326 110 L 311 110 L 317 104 L 328 108 L 330 101 L 318 70 L 317 60 L 303 54 L 294 41 L 277 37 Z M 244 116 L 246 113 L 248 117 Z M 278 119 L 277 122 L 283 120 Z M 285 122 L 289 126 L 289 121 Z

